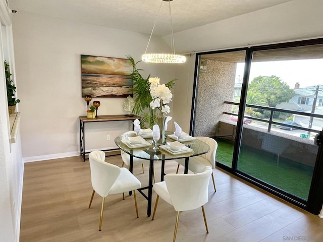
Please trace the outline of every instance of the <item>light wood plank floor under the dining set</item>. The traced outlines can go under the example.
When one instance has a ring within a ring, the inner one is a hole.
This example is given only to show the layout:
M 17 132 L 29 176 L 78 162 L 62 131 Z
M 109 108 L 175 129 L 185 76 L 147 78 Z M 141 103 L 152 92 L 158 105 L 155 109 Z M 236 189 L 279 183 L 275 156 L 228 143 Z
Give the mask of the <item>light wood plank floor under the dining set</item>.
M 121 166 L 119 156 L 106 161 Z M 166 162 L 166 173 L 177 163 Z M 183 172 L 183 169 L 181 170 Z M 177 241 L 323 241 L 323 219 L 267 194 L 224 172 L 213 170 L 217 193 L 209 183 L 204 206 L 209 234 L 201 209 L 182 212 Z M 134 174 L 147 185 L 148 167 L 134 167 Z M 157 181 L 160 162 L 155 165 Z M 25 164 L 21 242 L 45 241 L 172 241 L 176 211 L 159 200 L 155 219 L 146 216 L 146 200 L 137 193 L 139 218 L 133 196 L 111 195 L 105 199 L 102 231 L 98 231 L 101 198 L 92 193 L 89 162 L 70 157 Z M 153 196 L 153 204 L 156 195 Z

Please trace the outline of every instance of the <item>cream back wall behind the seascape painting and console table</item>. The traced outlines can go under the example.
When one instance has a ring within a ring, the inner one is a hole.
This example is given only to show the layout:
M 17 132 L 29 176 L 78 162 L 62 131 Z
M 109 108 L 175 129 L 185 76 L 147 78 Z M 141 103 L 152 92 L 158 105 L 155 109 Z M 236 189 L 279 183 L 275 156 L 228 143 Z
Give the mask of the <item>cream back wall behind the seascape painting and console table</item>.
M 18 12 L 13 15 L 17 89 L 25 161 L 79 154 L 79 116 L 86 115 L 81 96 L 81 54 L 141 59 L 148 37 L 134 32 Z M 168 50 L 153 40 L 151 50 Z M 173 65 L 138 64 L 144 77 L 174 78 Z M 98 115 L 124 114 L 125 98 L 95 98 Z M 86 125 L 86 150 L 116 147 L 114 138 L 129 122 Z M 87 132 L 89 131 L 89 132 Z M 111 140 L 106 141 L 106 135 Z

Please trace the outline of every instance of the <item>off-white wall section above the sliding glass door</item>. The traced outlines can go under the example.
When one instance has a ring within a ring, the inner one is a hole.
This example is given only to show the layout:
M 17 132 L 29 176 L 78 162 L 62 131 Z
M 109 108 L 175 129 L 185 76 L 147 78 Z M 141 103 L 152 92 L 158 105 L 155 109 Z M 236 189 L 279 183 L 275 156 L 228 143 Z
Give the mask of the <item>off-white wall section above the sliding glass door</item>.
M 323 37 L 322 9 L 321 0 L 294 0 L 185 30 L 174 34 L 176 51 L 202 52 Z

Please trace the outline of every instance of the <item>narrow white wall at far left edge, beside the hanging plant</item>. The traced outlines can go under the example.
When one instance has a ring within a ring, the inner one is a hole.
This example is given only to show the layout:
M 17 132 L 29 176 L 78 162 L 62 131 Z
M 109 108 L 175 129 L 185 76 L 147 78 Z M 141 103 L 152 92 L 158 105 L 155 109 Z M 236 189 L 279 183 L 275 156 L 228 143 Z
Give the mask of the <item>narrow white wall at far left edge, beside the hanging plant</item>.
M 10 12 L 0 1 L 0 62 L 5 59 L 14 74 Z M 14 77 L 14 75 L 13 75 Z M 10 126 L 4 65 L 0 65 L 0 241 L 19 241 L 23 164 L 20 135 L 10 143 Z

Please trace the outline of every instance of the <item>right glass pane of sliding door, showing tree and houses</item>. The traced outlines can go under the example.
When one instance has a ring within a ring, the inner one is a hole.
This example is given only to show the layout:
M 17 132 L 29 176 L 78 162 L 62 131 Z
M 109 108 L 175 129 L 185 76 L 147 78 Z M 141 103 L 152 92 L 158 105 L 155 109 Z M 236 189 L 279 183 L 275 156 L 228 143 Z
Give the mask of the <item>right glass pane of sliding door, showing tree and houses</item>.
M 244 115 L 255 119 L 242 129 L 237 163 L 238 171 L 303 201 L 318 150 L 314 138 L 323 127 L 322 50 L 253 51 Z

